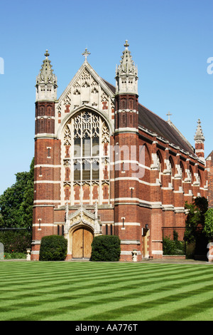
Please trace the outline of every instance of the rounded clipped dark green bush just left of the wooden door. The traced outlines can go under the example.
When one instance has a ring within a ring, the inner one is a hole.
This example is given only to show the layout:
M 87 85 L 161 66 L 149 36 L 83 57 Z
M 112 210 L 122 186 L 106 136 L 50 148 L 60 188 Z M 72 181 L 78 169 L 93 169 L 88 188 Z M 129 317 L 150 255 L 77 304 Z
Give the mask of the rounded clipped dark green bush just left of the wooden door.
M 44 236 L 40 242 L 40 261 L 64 261 L 67 256 L 67 239 L 60 235 Z

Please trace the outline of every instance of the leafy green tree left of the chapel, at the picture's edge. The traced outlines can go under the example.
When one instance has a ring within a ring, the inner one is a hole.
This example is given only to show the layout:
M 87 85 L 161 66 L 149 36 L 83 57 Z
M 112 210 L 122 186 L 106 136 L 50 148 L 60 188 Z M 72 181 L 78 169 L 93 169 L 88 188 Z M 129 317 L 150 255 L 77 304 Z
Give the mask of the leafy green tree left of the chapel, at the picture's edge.
M 16 173 L 16 182 L 0 196 L 0 227 L 33 224 L 34 158 L 29 172 Z

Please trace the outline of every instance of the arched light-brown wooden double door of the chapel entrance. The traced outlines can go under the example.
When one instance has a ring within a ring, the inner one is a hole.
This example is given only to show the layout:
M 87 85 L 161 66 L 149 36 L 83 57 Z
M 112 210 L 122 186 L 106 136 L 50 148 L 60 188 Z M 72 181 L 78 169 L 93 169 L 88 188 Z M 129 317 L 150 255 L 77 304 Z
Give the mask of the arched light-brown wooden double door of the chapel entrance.
M 90 258 L 93 234 L 87 227 L 80 227 L 72 234 L 72 258 Z

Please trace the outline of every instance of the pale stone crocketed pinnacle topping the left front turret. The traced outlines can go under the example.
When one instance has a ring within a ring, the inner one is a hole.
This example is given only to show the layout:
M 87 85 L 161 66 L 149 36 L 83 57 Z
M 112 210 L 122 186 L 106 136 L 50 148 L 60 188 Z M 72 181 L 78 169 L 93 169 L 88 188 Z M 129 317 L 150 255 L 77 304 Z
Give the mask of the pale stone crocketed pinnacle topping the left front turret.
M 53 84 L 53 86 L 57 87 L 57 77 L 53 73 L 52 65 L 50 64 L 51 61 L 49 60 L 48 50 L 45 52 L 45 60 L 41 66 L 40 72 L 36 77 L 36 84 L 39 85 L 40 83 L 44 84 Z

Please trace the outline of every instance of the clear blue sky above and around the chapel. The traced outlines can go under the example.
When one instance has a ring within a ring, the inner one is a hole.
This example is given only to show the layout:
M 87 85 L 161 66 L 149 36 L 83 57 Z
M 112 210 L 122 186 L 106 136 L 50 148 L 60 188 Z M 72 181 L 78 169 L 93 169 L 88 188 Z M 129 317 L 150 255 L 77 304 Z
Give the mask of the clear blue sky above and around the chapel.
M 212 0 L 0 0 L 0 6 L 0 194 L 16 172 L 29 170 L 34 155 L 35 77 L 46 48 L 59 97 L 86 47 L 94 70 L 115 84 L 128 39 L 139 102 L 165 120 L 170 111 L 193 146 L 200 118 L 205 157 L 212 151 Z

